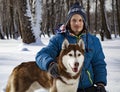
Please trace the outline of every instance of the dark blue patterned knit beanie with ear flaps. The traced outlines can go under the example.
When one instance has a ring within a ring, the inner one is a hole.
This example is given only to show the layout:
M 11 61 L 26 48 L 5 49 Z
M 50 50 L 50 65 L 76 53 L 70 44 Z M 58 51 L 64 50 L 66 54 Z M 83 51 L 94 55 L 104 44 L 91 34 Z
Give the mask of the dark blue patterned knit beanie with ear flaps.
M 70 10 L 67 14 L 67 18 L 66 18 L 66 25 L 68 24 L 68 22 L 70 21 L 71 17 L 74 14 L 79 14 L 80 16 L 82 16 L 83 22 L 85 23 L 85 27 L 87 27 L 86 13 L 85 13 L 85 10 L 83 9 L 83 7 L 79 5 L 79 2 L 74 3 L 72 5 L 72 7 L 70 8 Z

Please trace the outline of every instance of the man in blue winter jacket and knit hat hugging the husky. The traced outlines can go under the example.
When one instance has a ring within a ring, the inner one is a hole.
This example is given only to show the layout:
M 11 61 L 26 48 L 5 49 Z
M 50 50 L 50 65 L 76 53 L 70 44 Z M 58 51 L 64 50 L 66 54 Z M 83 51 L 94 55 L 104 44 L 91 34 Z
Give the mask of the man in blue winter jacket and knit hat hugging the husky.
M 54 78 L 59 77 L 55 58 L 61 51 L 63 40 L 66 38 L 69 43 L 77 43 L 82 38 L 86 51 L 77 92 L 106 92 L 104 86 L 107 84 L 107 71 L 102 47 L 99 39 L 88 33 L 86 14 L 78 2 L 70 8 L 62 27 L 64 30 L 60 30 L 50 39 L 48 46 L 37 53 L 37 65 Z

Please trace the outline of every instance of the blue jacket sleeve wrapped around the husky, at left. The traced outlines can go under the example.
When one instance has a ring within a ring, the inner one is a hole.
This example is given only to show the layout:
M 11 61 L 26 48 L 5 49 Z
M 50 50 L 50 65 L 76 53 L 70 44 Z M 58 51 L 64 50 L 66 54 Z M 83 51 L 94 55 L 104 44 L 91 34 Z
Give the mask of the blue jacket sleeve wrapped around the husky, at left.
M 59 44 L 57 37 L 54 36 L 50 39 L 48 46 L 42 48 L 36 55 L 36 63 L 42 70 L 48 70 L 48 65 L 55 61 L 59 55 Z

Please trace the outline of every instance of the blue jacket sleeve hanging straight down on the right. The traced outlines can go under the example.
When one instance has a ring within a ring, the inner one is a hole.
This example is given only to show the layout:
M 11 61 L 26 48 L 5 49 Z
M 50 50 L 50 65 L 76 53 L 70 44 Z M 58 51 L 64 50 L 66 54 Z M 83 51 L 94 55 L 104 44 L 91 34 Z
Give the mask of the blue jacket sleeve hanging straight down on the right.
M 92 61 L 94 71 L 95 83 L 102 82 L 104 85 L 107 84 L 107 70 L 106 63 L 104 61 L 105 56 L 102 50 L 101 43 L 98 38 L 94 40 L 95 53 Z

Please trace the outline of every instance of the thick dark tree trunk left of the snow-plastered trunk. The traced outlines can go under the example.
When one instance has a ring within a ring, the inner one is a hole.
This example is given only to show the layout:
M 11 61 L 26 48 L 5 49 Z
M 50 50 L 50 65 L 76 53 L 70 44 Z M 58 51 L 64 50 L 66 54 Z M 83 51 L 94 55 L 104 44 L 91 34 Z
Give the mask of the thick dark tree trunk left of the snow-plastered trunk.
M 26 5 L 27 0 L 17 1 L 22 40 L 24 43 L 30 44 L 35 42 L 35 36 L 32 33 L 31 23 L 29 21 L 30 18 L 25 16 L 27 9 Z

